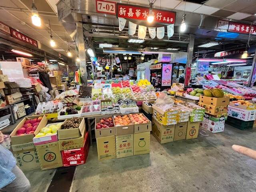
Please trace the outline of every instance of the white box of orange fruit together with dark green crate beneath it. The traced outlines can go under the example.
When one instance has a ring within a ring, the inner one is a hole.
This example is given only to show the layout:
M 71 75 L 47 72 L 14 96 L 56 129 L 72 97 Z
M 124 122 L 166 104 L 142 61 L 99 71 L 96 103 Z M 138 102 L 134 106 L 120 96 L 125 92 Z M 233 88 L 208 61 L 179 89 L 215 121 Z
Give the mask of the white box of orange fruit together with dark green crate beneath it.
M 255 104 L 244 100 L 229 103 L 227 124 L 240 130 L 248 130 L 253 128 L 255 119 Z

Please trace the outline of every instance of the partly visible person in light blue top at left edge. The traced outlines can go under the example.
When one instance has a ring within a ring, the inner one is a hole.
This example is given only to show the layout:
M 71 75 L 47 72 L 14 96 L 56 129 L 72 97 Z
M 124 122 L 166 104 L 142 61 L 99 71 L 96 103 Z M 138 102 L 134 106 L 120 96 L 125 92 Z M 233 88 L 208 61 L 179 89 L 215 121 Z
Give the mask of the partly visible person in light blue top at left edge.
M 0 131 L 0 192 L 28 192 L 30 182 L 16 165 L 16 159 L 1 143 L 4 134 Z

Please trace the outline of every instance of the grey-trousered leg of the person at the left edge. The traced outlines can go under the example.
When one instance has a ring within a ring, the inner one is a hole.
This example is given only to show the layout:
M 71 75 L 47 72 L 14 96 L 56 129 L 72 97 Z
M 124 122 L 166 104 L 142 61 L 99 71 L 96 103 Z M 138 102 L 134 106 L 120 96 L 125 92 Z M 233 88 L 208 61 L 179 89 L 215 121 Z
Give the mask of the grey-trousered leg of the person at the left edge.
M 18 168 L 18 166 L 15 166 L 12 169 L 12 172 L 16 176 L 16 179 L 14 179 L 13 182 L 11 182 L 10 184 L 8 184 L 4 188 L 2 188 L 0 191 L 3 191 L 3 192 L 28 192 L 28 190 L 30 189 L 30 182 L 26 178 L 26 176 L 24 175 L 22 170 L 20 170 L 20 168 Z

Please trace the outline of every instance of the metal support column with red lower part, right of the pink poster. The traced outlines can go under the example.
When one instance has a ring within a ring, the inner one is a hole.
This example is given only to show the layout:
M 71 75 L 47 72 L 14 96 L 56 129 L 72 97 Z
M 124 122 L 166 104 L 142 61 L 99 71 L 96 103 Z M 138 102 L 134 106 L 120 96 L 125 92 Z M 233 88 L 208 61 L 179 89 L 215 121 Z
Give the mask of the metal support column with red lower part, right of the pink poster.
M 185 73 L 185 84 L 184 86 L 187 87 L 188 84 L 186 82 L 190 80 L 191 78 L 191 70 L 189 71 L 188 68 L 191 67 L 192 64 L 192 59 L 193 59 L 193 52 L 194 52 L 194 42 L 195 42 L 195 35 L 194 34 L 189 34 L 189 44 L 188 44 L 188 56 L 187 56 L 187 63 L 186 63 L 186 73 Z M 186 75 L 187 72 L 190 73 L 190 75 Z M 186 80 L 189 78 L 189 80 Z

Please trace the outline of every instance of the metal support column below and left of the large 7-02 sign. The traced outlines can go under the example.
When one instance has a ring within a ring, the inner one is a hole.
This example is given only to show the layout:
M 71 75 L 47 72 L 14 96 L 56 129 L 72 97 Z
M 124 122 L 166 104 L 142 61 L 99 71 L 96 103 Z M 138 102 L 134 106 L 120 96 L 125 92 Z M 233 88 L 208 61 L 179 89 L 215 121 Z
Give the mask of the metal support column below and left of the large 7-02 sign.
M 82 14 L 76 14 L 76 33 L 78 40 L 78 56 L 80 62 L 78 63 L 78 67 L 80 68 L 82 80 L 84 81 L 84 85 L 87 86 L 87 70 L 86 70 L 86 53 L 84 46 L 84 31 L 83 31 L 83 23 L 82 23 Z

